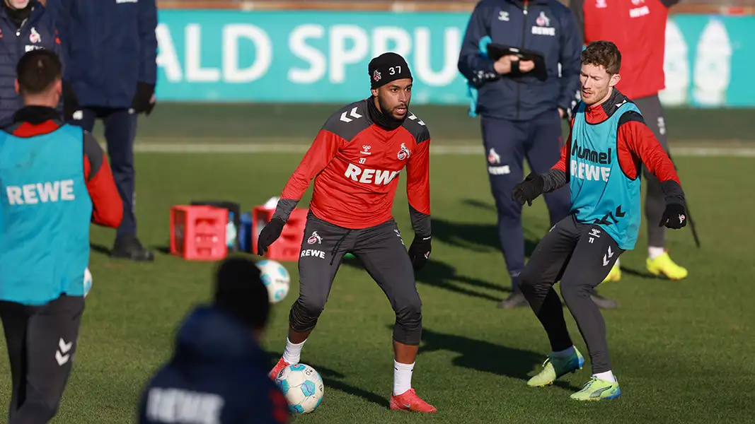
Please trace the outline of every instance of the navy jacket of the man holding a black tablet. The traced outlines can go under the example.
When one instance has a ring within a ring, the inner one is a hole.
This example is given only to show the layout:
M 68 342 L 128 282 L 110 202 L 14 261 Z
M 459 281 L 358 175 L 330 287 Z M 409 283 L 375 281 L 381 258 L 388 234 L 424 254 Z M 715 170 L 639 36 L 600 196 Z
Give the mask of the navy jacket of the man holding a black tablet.
M 498 75 L 487 57 L 490 42 L 542 53 L 547 79 Z M 470 81 L 470 115 L 526 121 L 556 108 L 569 111 L 579 89 L 581 51 L 575 18 L 557 0 L 482 0 L 470 17 L 458 63 Z

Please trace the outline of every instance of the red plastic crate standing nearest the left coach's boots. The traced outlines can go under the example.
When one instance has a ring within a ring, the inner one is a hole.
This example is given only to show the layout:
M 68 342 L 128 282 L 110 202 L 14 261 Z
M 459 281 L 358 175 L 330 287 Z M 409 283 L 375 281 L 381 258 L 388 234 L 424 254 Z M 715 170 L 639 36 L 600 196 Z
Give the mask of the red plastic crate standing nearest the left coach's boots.
M 222 260 L 228 254 L 228 210 L 211 206 L 171 207 L 171 254 L 185 260 Z

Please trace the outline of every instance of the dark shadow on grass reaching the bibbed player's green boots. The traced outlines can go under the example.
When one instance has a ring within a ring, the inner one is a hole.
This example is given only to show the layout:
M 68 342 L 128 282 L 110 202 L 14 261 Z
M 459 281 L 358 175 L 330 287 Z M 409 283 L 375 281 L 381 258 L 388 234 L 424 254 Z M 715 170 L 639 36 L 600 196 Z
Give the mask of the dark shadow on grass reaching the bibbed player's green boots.
M 469 368 L 485 373 L 509 376 L 515 379 L 528 380 L 541 370 L 545 355 L 538 352 L 510 348 L 486 340 L 474 340 L 455 334 L 439 333 L 422 329 L 422 346 L 419 353 L 448 351 L 458 353 L 452 364 L 455 367 Z M 553 383 L 562 389 L 579 390 L 564 381 Z

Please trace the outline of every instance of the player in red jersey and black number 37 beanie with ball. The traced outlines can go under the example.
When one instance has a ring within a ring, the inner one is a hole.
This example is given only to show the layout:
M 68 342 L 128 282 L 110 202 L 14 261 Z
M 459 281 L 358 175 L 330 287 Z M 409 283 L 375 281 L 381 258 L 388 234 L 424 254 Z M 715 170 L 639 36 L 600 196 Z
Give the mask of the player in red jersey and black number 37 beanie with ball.
M 350 252 L 361 260 L 396 312 L 390 408 L 431 413 L 436 408 L 411 388 L 422 332 L 422 302 L 414 272 L 430 257 L 430 132 L 408 109 L 412 78 L 401 56 L 375 57 L 368 73 L 371 97 L 338 109 L 325 121 L 257 241 L 257 254 L 262 256 L 280 236 L 314 179 L 299 257 L 299 297 L 291 306 L 285 352 L 270 377 L 299 362 L 302 346 L 325 308 L 338 266 Z M 414 229 L 408 253 L 391 215 L 404 167 Z

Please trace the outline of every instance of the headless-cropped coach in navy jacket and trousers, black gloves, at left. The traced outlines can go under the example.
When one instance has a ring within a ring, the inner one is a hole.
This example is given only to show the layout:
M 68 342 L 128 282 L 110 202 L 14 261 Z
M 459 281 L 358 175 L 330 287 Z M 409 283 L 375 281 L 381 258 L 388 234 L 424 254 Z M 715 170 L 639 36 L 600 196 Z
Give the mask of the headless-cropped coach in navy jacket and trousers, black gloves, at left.
M 137 114 L 149 114 L 155 104 L 155 0 L 54 1 L 62 2 L 66 121 L 91 131 L 95 119 L 103 120 L 112 174 L 123 198 L 123 223 L 111 255 L 153 260 L 137 238 L 133 148 Z

